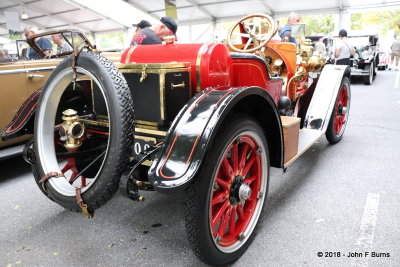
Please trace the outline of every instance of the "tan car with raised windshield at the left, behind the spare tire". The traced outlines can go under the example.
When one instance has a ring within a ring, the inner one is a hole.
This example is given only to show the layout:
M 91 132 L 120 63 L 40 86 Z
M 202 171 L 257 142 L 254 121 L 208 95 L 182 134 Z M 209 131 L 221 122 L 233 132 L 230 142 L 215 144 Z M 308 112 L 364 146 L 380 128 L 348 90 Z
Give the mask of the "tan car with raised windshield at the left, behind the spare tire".
M 52 36 L 57 35 L 69 49 L 57 49 Z M 41 51 L 33 41 L 35 38 L 47 38 L 52 44 L 50 56 Z M 72 53 L 73 47 L 80 48 L 89 41 L 79 31 L 60 30 L 37 34 L 28 40 L 16 42 L 18 58 L 4 59 L 0 62 L 0 160 L 20 155 L 23 144 L 31 137 L 24 134 L 23 127 L 29 123 L 32 114 L 29 112 L 37 105 L 40 90 L 47 78 L 63 57 Z M 34 49 L 39 56 L 30 60 L 26 58 L 27 50 Z M 112 57 L 112 53 L 109 53 Z M 119 57 L 116 57 L 118 60 Z M 17 115 L 16 115 L 17 114 Z M 17 118 L 16 118 L 17 117 Z

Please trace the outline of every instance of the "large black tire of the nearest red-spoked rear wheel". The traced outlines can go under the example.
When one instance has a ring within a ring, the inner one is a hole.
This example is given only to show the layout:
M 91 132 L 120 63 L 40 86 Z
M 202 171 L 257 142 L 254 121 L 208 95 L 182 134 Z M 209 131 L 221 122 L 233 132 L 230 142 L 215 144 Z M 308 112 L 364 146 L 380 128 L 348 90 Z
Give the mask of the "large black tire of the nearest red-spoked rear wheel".
M 243 157 L 247 158 L 246 160 L 237 160 L 238 168 L 252 161 L 254 157 L 250 171 L 244 176 L 243 182 L 241 182 L 240 174 L 243 175 L 244 171 L 239 169 L 236 174 L 234 173 L 235 165 L 232 164 L 232 161 L 234 161 L 233 154 L 235 153 L 232 151 L 235 146 L 238 151 L 237 159 L 241 155 L 247 155 L 247 157 Z M 245 146 L 251 152 L 247 150 L 247 153 L 243 152 Z M 268 191 L 268 145 L 261 127 L 254 119 L 245 115 L 234 115 L 231 120 L 223 124 L 215 141 L 209 147 L 210 151 L 202 163 L 203 167 L 195 182 L 186 190 L 187 195 L 184 201 L 186 233 L 194 253 L 200 260 L 211 265 L 226 265 L 239 258 L 254 238 L 254 229 Z M 232 150 L 230 150 L 231 148 Z M 223 159 L 230 162 L 233 172 L 222 173 Z M 217 173 L 219 173 L 218 181 Z M 248 180 L 250 173 L 256 177 L 254 182 Z M 223 185 L 224 183 L 225 185 Z M 226 183 L 230 186 L 226 187 Z M 241 200 L 238 192 L 242 189 L 246 190 L 247 186 L 244 184 L 247 183 L 250 184 L 251 195 L 248 199 Z M 225 197 L 224 200 L 211 205 L 211 199 L 215 200 L 217 195 L 221 196 L 220 194 Z M 257 195 L 259 198 L 256 197 Z M 228 196 L 229 199 L 227 199 Z M 224 205 L 229 205 L 229 207 L 224 210 Z M 251 205 L 253 205 L 254 212 L 247 213 Z M 221 219 L 218 219 L 217 211 L 223 213 Z M 240 216 L 240 214 L 246 214 L 246 216 Z M 230 221 L 227 229 L 221 226 L 224 220 Z M 214 221 L 215 226 L 210 225 L 211 221 Z M 224 233 L 218 237 L 217 231 L 221 231 L 220 227 Z M 230 234 L 225 234 L 225 230 Z

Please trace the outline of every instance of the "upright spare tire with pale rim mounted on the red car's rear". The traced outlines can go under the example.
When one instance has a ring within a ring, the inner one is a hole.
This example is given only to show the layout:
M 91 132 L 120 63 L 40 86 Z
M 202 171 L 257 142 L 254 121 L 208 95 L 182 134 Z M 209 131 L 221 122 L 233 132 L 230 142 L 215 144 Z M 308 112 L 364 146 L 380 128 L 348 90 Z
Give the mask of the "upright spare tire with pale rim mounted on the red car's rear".
M 93 211 L 117 191 L 121 172 L 128 163 L 134 134 L 133 101 L 125 78 L 111 61 L 98 53 L 83 51 L 76 61 L 78 77 L 86 75 L 93 82 L 93 87 L 86 88 L 90 94 L 80 92 L 79 86 L 72 89 L 71 66 L 72 56 L 52 72 L 41 94 L 35 117 L 36 163 L 32 169 L 37 184 L 51 200 L 64 208 L 80 211 L 74 192 L 81 188 L 84 203 Z M 67 150 L 54 125 L 62 123 L 61 112 L 71 108 L 77 110 L 78 115 L 93 113 L 95 118 L 101 113 L 102 121 L 108 121 L 109 126 L 103 130 L 96 126 L 96 131 L 90 131 L 91 124 L 85 123 L 82 145 Z M 102 153 L 105 154 L 101 156 Z M 95 158 L 98 160 L 83 172 L 84 180 L 70 184 L 72 176 L 82 172 Z M 64 161 L 74 166 L 68 167 Z M 65 178 L 53 177 L 39 183 L 51 172 L 63 173 Z

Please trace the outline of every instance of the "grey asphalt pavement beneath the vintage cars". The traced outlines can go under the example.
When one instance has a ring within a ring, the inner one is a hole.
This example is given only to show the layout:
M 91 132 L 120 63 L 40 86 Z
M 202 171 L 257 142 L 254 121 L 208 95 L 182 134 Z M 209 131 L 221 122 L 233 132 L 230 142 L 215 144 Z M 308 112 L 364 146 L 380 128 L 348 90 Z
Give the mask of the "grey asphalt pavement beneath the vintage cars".
M 257 236 L 234 266 L 400 266 L 400 71 L 353 79 L 342 141 L 271 169 Z M 86 219 L 48 200 L 21 159 L 0 161 L 0 267 L 202 266 L 183 196 L 117 194 Z

